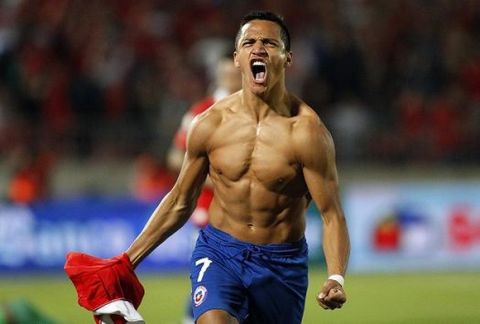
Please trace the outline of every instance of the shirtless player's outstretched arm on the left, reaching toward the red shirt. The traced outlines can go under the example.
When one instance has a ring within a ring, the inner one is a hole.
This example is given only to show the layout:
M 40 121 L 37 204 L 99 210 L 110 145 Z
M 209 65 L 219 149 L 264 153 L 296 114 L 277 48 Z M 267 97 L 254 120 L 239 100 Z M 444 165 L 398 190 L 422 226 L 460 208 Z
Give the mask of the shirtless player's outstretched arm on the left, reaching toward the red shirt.
M 218 120 L 215 113 L 205 113 L 192 123 L 185 159 L 175 185 L 126 251 L 134 268 L 190 217 L 208 174 L 208 139 Z

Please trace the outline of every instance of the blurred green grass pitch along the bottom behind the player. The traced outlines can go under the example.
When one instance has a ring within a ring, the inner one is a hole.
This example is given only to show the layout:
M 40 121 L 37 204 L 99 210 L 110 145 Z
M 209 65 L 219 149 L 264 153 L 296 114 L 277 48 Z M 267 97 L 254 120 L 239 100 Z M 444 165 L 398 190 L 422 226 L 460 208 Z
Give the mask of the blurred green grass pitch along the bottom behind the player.
M 146 289 L 140 313 L 147 323 L 180 323 L 187 278 L 140 274 Z M 349 301 L 336 311 L 316 305 L 324 278 L 311 272 L 303 323 L 480 323 L 480 273 L 349 275 Z M 19 298 L 59 323 L 93 323 L 66 277 L 0 277 L 0 302 Z

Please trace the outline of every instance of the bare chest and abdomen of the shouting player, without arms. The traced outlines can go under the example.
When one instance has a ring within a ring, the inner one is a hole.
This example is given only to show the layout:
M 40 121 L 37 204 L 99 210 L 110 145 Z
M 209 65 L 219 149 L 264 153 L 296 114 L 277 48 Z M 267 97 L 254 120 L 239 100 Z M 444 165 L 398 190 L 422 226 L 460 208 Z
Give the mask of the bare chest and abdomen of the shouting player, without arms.
M 237 93 L 204 117 L 217 119 L 206 144 L 215 188 L 210 223 L 238 239 L 280 243 L 304 235 L 308 190 L 293 138 L 299 120 L 314 113 L 291 102 L 290 116 L 269 110 L 257 120 Z

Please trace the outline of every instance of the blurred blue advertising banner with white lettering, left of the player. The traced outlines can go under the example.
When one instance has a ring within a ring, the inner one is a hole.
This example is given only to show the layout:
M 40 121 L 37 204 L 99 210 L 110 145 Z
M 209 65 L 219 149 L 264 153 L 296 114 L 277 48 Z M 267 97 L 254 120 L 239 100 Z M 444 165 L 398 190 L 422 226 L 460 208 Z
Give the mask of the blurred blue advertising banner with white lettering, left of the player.
M 109 258 L 125 251 L 156 203 L 131 198 L 0 205 L 0 272 L 63 271 L 65 254 L 80 251 Z M 316 215 L 311 209 L 309 215 Z M 319 257 L 320 219 L 308 217 L 310 255 Z M 198 229 L 187 222 L 140 265 L 144 271 L 186 270 Z

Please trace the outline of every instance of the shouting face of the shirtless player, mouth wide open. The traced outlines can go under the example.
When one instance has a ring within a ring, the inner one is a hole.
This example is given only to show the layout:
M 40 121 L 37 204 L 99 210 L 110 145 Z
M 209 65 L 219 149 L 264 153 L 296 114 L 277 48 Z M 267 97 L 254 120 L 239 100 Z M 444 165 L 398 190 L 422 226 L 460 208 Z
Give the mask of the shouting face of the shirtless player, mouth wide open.
M 276 23 L 250 21 L 242 27 L 236 45 L 234 61 L 242 72 L 244 87 L 260 94 L 283 80 L 292 54 L 285 50 L 280 26 Z

